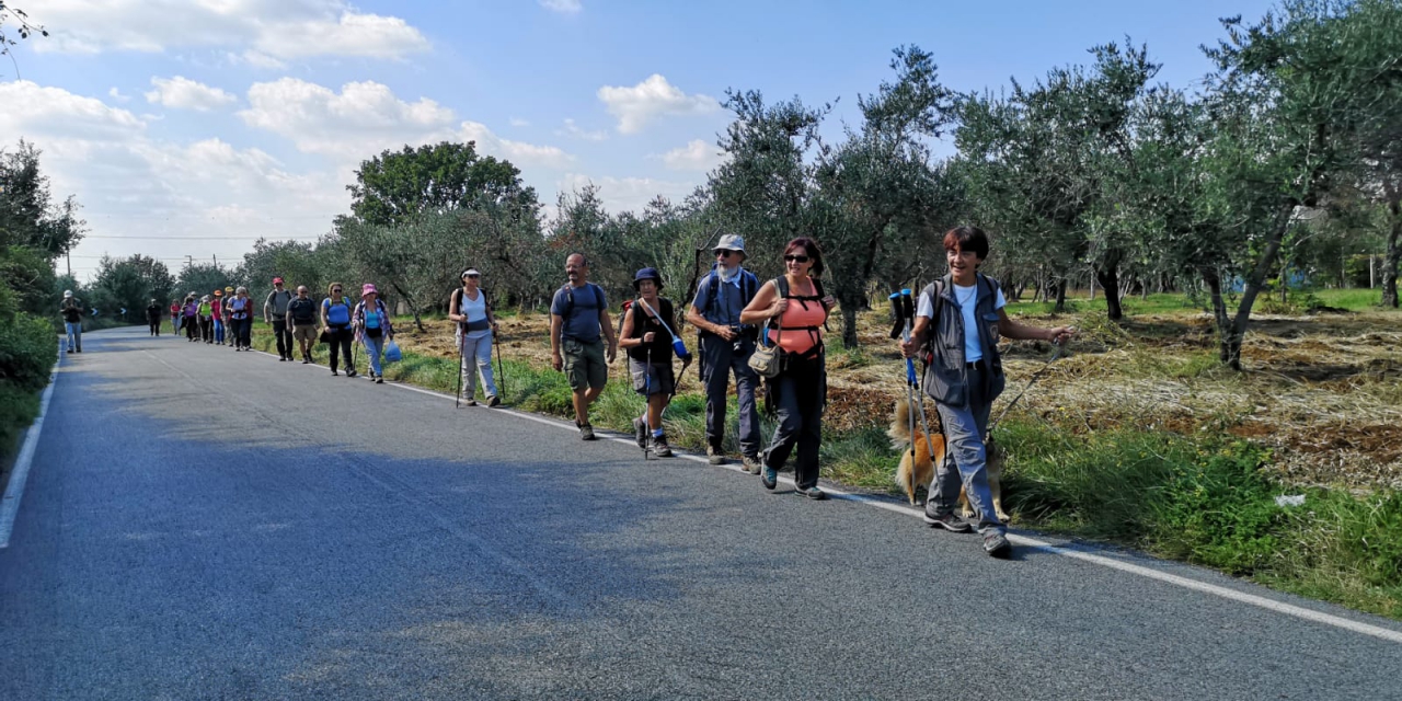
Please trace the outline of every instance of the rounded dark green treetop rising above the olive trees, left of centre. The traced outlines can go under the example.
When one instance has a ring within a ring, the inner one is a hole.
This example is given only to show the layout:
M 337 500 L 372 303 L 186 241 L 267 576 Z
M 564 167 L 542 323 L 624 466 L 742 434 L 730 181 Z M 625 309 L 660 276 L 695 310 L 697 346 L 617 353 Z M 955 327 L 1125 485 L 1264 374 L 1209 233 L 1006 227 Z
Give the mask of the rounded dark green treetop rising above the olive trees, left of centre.
M 401 151 L 386 150 L 360 164 L 350 191 L 352 215 L 367 224 L 402 224 L 485 203 L 534 213 L 536 191 L 522 185 L 510 161 L 479 156 L 474 142 Z

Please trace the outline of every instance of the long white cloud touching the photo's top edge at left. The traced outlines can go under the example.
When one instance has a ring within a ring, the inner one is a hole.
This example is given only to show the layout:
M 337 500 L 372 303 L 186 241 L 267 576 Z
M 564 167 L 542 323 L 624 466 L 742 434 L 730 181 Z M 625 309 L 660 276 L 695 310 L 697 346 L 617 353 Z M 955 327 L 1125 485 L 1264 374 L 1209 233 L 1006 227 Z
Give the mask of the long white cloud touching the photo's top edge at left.
M 343 0 L 49 0 L 29 10 L 52 34 L 36 50 L 226 48 L 255 66 L 278 66 L 308 56 L 400 59 L 429 48 L 404 20 L 359 13 Z

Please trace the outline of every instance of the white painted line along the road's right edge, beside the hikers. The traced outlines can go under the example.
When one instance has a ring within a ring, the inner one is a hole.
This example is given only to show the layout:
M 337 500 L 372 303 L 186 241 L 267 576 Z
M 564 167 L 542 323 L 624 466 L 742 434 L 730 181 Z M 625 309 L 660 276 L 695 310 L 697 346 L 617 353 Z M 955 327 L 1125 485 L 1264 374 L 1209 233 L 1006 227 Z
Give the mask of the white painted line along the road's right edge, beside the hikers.
M 402 384 L 402 383 L 391 383 L 391 387 L 400 387 L 400 388 L 404 388 L 404 390 L 416 391 L 419 394 L 428 394 L 430 397 L 437 397 L 440 400 L 447 400 L 447 401 L 456 400 L 456 397 L 453 397 L 451 394 L 436 393 L 433 390 L 425 390 L 422 387 L 412 387 L 412 386 Z M 537 416 L 534 414 L 526 414 L 526 412 L 516 411 L 516 409 L 489 409 L 489 411 L 495 411 L 498 414 L 509 414 L 512 416 L 519 416 L 519 418 L 523 418 L 523 419 L 527 419 L 527 421 L 534 421 L 537 423 L 544 423 L 547 426 L 554 426 L 554 428 L 558 428 L 558 429 L 578 430 L 578 429 L 575 429 L 573 423 L 565 423 L 562 421 L 554 421 L 554 419 L 548 419 L 548 418 L 544 418 L 544 416 Z M 629 437 L 615 437 L 615 436 L 606 436 L 606 437 L 608 440 L 615 440 L 618 443 L 624 443 L 624 444 L 628 444 L 628 446 L 635 446 L 635 443 Z M 702 464 L 708 463 L 704 456 L 693 456 L 693 454 L 679 453 L 676 457 L 680 457 L 680 458 L 684 458 L 684 460 L 691 460 L 691 461 L 695 461 L 695 463 L 702 463 Z M 735 472 L 744 472 L 744 468 L 740 467 L 740 465 L 722 465 L 722 467 L 725 470 L 730 470 L 730 471 L 735 471 Z M 780 477 L 780 481 L 784 482 L 784 484 L 787 484 L 787 485 L 792 485 L 794 484 L 794 479 L 791 479 L 788 477 Z M 903 516 L 911 516 L 911 517 L 916 517 L 916 519 L 920 519 L 920 517 L 924 516 L 924 510 L 921 510 L 921 509 L 916 509 L 916 508 L 911 508 L 911 506 L 904 506 L 904 505 L 900 505 L 900 503 L 892 503 L 892 502 L 885 501 L 885 499 L 873 499 L 871 496 L 864 496 L 864 495 L 857 495 L 857 494 L 851 494 L 851 492 L 844 492 L 841 489 L 833 489 L 833 488 L 829 488 L 829 486 L 824 486 L 823 491 L 827 492 L 834 499 L 841 499 L 841 501 L 847 501 L 847 502 L 857 502 L 857 503 L 862 503 L 862 505 L 866 505 L 866 506 L 873 506 L 876 509 L 885 509 L 887 512 L 900 513 Z M 1154 579 L 1154 580 L 1158 580 L 1158 582 L 1164 582 L 1166 585 L 1180 586 L 1183 589 L 1190 589 L 1193 592 L 1202 592 L 1204 594 L 1211 594 L 1211 596 L 1217 596 L 1217 597 L 1221 597 L 1221 599 L 1228 599 L 1228 600 L 1232 600 L 1232 601 L 1238 601 L 1238 603 L 1244 603 L 1244 604 L 1249 604 L 1249 606 L 1256 606 L 1256 607 L 1265 608 L 1267 611 L 1274 611 L 1274 613 L 1280 613 L 1280 614 L 1286 614 L 1286 615 L 1293 615 L 1295 618 L 1301 618 L 1301 620 L 1305 620 L 1305 621 L 1318 622 L 1318 624 L 1323 624 L 1323 625 L 1332 625 L 1335 628 L 1342 628 L 1342 629 L 1346 629 L 1346 631 L 1353 631 L 1353 632 L 1359 632 L 1359 634 L 1363 634 L 1363 635 L 1370 635 L 1373 638 L 1384 639 L 1384 641 L 1388 641 L 1388 642 L 1402 644 L 1402 631 L 1395 631 L 1395 629 L 1391 629 L 1391 628 L 1382 628 L 1380 625 L 1371 625 L 1371 624 L 1354 621 L 1354 620 L 1350 620 L 1350 618 L 1343 618 L 1340 615 L 1333 615 L 1333 614 L 1326 614 L 1326 613 L 1322 613 L 1322 611 L 1315 611 L 1312 608 L 1305 608 L 1302 606 L 1287 604 L 1284 601 L 1277 601 L 1274 599 L 1267 599 L 1265 596 L 1248 594 L 1245 592 L 1238 592 L 1235 589 L 1230 589 L 1230 587 L 1225 587 L 1225 586 L 1210 585 L 1207 582 L 1199 582 L 1196 579 L 1190 579 L 1190 578 L 1186 578 L 1186 576 L 1172 575 L 1172 573 L 1168 573 L 1168 572 L 1161 572 L 1161 571 L 1154 569 L 1154 568 L 1148 568 L 1148 566 L 1143 566 L 1143 565 L 1134 565 L 1134 564 L 1130 564 L 1130 562 L 1122 562 L 1119 559 L 1108 558 L 1105 555 L 1096 555 L 1094 552 L 1085 552 L 1085 551 L 1073 550 L 1073 548 L 1063 548 L 1063 547 L 1053 545 L 1050 543 L 1040 541 L 1040 540 L 1036 540 L 1036 538 L 1032 538 L 1032 537 L 1028 537 L 1028 536 L 1018 536 L 1018 534 L 1009 533 L 1008 534 L 1008 540 L 1012 541 L 1015 545 L 1022 545 L 1025 548 L 1040 550 L 1043 552 L 1050 552 L 1053 555 L 1064 555 L 1064 557 L 1068 557 L 1068 558 L 1080 559 L 1082 562 L 1089 562 L 1092 565 L 1099 565 L 1099 566 L 1105 566 L 1105 568 L 1110 568 L 1110 569 L 1117 569 L 1120 572 L 1126 572 L 1126 573 L 1130 573 L 1130 575 L 1143 576 L 1143 578 L 1147 578 L 1147 579 Z

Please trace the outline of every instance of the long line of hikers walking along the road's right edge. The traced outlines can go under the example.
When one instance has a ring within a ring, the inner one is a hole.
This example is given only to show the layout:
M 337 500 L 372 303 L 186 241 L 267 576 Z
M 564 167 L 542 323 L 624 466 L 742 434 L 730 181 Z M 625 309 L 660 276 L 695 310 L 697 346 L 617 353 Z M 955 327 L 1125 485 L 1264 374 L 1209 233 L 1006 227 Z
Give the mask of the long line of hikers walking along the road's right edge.
M 1008 318 L 998 280 L 979 272 L 988 257 L 988 237 L 980 229 L 952 229 L 942 243 L 949 272 L 921 290 L 908 334 L 899 342 L 904 358 L 924 362 L 920 390 L 935 402 L 946 444 L 946 457 L 928 485 L 924 519 L 955 533 L 977 527 L 984 551 L 1002 557 L 1011 547 L 1007 527 L 994 509 L 984 443 L 990 407 L 1005 386 L 997 343 L 1000 336 L 1060 343 L 1074 329 L 1030 327 Z M 763 486 L 774 491 L 780 468 L 796 453 L 798 494 L 826 499 L 817 485 L 827 402 L 823 331 L 836 300 L 823 290 L 823 252 L 812 238 L 791 240 L 782 251 L 784 273 L 763 283 L 744 268 L 749 254 L 743 237 L 722 236 L 712 252 L 715 265 L 700 280 L 684 317 L 698 332 L 708 461 L 714 465 L 728 461 L 722 446 L 733 380 L 744 471 L 758 475 Z M 565 276 L 568 282 L 551 299 L 550 349 L 554 369 L 568 377 L 580 439 L 596 439 L 589 408 L 603 393 L 608 366 L 622 348 L 632 390 L 645 400 L 645 408 L 632 421 L 638 447 L 659 457 L 672 456 L 662 415 L 677 387 L 674 363 L 680 359 L 684 372 L 691 355 L 677 336 L 673 303 L 660 296 L 662 275 L 651 266 L 634 275 L 637 297 L 622 306 L 617 331 L 603 287 L 589 282 L 589 261 L 583 254 L 566 258 Z M 278 358 L 292 360 L 297 348 L 301 362 L 310 363 L 311 348 L 320 339 L 331 348 L 331 374 L 338 374 L 338 360 L 343 359 L 345 374 L 355 377 L 352 342 L 356 342 L 366 349 L 370 379 L 383 383 L 381 353 L 386 341 L 394 338 L 388 310 L 374 285 L 363 285 L 356 303 L 343 292 L 341 283 L 332 283 L 318 304 L 306 286 L 293 294 L 283 287 L 282 278 L 273 278 L 262 313 L 276 336 Z M 153 335 L 160 334 L 160 313 L 151 300 L 147 314 Z M 252 314 L 245 287 L 226 287 L 202 297 L 192 292 L 182 303 L 170 306 L 171 324 L 177 331 L 185 329 L 188 341 L 227 342 L 236 350 L 250 349 Z M 463 271 L 461 287 L 449 297 L 449 318 L 456 324 L 461 397 L 477 405 L 481 380 L 486 405 L 501 405 L 492 374 L 498 322 L 477 269 Z M 72 346 L 70 334 L 70 350 Z M 768 440 L 760 433 L 761 391 L 777 419 Z M 955 515 L 960 486 L 976 524 Z

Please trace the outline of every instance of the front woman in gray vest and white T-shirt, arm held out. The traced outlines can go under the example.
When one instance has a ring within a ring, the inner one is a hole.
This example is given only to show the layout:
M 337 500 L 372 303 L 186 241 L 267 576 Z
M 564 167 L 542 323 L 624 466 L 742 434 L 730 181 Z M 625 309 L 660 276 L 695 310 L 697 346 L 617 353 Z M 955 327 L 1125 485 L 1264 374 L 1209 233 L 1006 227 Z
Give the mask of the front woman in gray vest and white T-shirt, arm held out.
M 969 522 L 955 516 L 962 486 L 977 512 L 983 550 L 1004 557 L 1012 545 L 993 505 L 984 446 L 988 409 L 1007 383 L 998 336 L 1059 343 L 1071 338 L 1075 329 L 1037 328 L 1008 318 L 998 280 L 979 272 L 988 257 L 988 237 L 979 227 L 951 229 L 944 244 L 949 273 L 920 293 L 910 341 L 900 343 L 906 358 L 927 353 L 923 386 L 935 400 L 948 446 L 930 484 L 925 523 L 967 533 Z M 976 332 L 969 334 L 970 328 Z

